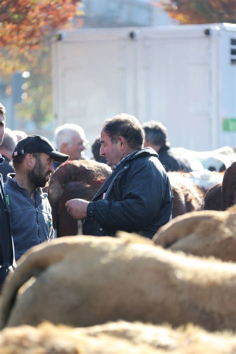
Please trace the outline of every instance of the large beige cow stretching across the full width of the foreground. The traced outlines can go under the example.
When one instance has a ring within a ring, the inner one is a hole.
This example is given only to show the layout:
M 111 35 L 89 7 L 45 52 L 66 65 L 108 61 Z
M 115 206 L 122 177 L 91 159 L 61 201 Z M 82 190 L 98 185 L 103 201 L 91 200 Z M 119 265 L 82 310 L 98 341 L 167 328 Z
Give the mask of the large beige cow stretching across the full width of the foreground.
M 234 264 L 122 235 L 62 237 L 28 251 L 3 286 L 1 327 L 123 319 L 236 330 Z

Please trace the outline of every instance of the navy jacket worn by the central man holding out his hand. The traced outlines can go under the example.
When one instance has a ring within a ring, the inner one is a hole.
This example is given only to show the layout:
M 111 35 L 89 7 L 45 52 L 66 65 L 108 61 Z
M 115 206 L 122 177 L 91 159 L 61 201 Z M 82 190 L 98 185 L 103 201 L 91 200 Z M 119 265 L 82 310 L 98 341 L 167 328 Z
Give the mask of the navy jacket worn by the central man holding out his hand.
M 96 221 L 98 236 L 125 230 L 151 238 L 171 219 L 172 204 L 169 178 L 155 151 L 146 148 L 114 170 L 89 203 L 87 218 Z

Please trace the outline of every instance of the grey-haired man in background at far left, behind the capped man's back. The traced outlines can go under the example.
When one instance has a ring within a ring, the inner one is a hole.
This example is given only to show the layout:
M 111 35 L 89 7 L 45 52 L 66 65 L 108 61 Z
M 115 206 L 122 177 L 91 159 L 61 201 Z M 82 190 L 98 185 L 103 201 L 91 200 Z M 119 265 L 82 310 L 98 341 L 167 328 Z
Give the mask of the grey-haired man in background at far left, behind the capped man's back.
M 2 168 L 0 170 L 0 173 L 2 174 L 3 182 L 6 181 L 7 174 L 14 172 L 11 164 L 11 160 L 12 160 L 12 151 L 14 150 L 16 144 L 17 144 L 17 137 L 15 133 L 11 129 L 5 128 L 4 138 L 0 146 L 0 154 L 5 159 L 4 163 L 2 164 Z

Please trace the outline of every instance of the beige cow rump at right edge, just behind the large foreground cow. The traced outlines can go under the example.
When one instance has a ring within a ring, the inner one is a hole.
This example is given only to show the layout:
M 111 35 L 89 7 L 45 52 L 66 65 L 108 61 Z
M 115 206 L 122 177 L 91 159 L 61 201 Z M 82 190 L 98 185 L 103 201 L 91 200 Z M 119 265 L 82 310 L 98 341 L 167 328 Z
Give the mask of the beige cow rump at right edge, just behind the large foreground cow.
M 152 240 L 172 251 L 236 262 L 236 206 L 178 216 L 162 226 Z

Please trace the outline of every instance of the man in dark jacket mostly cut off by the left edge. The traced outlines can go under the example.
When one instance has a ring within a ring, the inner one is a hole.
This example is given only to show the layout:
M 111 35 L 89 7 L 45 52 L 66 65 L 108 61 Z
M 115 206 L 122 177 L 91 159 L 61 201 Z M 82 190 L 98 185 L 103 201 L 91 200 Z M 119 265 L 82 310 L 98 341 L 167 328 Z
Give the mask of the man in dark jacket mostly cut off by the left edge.
M 5 108 L 0 103 L 0 144 L 2 143 L 5 128 Z M 0 155 L 0 165 L 4 159 Z M 14 252 L 10 228 L 10 212 L 3 189 L 0 174 L 0 289 L 6 275 L 13 271 Z

